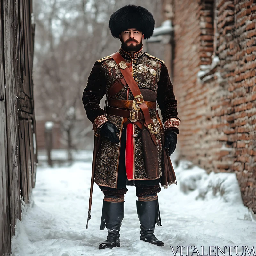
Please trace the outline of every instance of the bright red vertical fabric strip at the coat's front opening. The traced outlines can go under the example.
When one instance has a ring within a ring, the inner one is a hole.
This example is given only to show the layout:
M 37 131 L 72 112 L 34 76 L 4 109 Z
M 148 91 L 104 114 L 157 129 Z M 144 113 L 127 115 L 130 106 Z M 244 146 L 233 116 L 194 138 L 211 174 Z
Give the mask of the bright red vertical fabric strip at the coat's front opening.
M 126 147 L 125 147 L 125 167 L 127 179 L 133 179 L 133 163 L 134 163 L 134 145 L 133 145 L 133 125 L 127 124 L 126 128 Z

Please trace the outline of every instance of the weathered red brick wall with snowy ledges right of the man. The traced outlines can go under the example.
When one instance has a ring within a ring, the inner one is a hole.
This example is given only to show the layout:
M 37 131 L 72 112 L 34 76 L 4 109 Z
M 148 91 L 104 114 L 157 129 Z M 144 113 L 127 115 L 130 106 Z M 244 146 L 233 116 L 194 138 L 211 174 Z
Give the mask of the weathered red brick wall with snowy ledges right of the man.
M 174 5 L 180 158 L 235 172 L 256 212 L 256 1 Z

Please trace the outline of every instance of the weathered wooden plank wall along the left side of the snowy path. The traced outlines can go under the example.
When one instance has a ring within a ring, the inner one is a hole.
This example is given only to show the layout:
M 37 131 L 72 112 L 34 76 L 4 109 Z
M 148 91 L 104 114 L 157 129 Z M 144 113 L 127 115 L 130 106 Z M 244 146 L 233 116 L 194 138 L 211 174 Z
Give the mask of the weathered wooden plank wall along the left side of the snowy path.
M 11 253 L 21 200 L 35 186 L 32 0 L 0 1 L 0 255 Z

